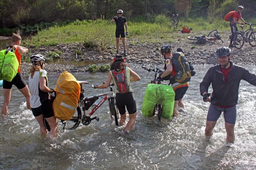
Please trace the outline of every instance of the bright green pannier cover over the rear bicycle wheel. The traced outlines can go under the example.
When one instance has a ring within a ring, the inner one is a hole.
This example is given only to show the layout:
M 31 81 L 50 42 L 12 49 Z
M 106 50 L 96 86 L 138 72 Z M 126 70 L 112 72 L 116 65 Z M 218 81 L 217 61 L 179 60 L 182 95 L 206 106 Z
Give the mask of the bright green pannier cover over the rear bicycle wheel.
M 175 92 L 172 86 L 163 84 L 148 84 L 143 104 L 142 115 L 146 117 L 153 116 L 154 107 L 156 104 L 162 105 L 162 117 L 172 118 L 174 108 Z

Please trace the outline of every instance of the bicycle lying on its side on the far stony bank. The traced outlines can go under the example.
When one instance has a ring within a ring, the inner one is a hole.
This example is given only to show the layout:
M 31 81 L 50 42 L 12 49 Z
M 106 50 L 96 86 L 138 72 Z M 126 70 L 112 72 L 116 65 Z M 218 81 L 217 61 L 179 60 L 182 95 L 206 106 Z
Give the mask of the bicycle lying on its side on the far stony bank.
M 218 35 L 218 29 L 214 29 L 206 36 L 200 35 L 200 36 L 189 36 L 189 40 L 196 40 L 198 43 L 207 43 L 209 41 L 216 41 L 221 40 L 221 36 Z M 223 43 L 223 40 L 221 40 Z

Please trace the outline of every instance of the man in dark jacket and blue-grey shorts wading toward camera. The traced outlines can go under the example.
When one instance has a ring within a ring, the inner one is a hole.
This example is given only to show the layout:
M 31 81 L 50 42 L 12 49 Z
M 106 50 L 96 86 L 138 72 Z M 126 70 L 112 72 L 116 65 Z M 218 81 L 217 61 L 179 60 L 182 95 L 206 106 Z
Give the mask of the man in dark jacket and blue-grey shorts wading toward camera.
M 256 86 L 256 75 L 230 61 L 230 48 L 218 48 L 216 57 L 219 64 L 211 67 L 200 83 L 200 93 L 203 100 L 211 103 L 207 114 L 205 136 L 207 138 L 212 136 L 217 120 L 221 112 L 224 112 L 226 140 L 229 143 L 234 143 L 239 84 L 241 80 L 244 80 Z M 212 94 L 208 93 L 210 84 L 212 84 Z

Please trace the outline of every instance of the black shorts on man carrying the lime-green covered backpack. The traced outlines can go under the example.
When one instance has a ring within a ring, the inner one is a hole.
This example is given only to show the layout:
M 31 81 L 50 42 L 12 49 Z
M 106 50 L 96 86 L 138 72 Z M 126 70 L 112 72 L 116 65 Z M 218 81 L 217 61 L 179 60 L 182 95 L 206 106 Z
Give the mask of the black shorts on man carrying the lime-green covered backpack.
M 4 89 L 12 89 L 12 85 L 15 85 L 18 89 L 23 89 L 24 87 L 26 87 L 26 82 L 23 80 L 20 72 L 15 75 L 11 82 L 3 80 Z

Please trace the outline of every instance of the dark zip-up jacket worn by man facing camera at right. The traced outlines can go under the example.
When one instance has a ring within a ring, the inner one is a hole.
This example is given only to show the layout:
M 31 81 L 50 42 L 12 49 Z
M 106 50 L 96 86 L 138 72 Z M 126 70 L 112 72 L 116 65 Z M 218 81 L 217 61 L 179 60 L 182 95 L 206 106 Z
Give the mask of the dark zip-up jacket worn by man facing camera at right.
M 224 75 L 221 72 L 220 65 L 209 68 L 203 81 L 200 83 L 200 93 L 208 93 L 208 88 L 212 84 L 211 103 L 217 106 L 231 107 L 238 101 L 239 84 L 241 80 L 256 86 L 256 75 L 241 66 L 234 65 L 231 61 L 231 68 L 228 73 L 227 83 L 224 81 Z

